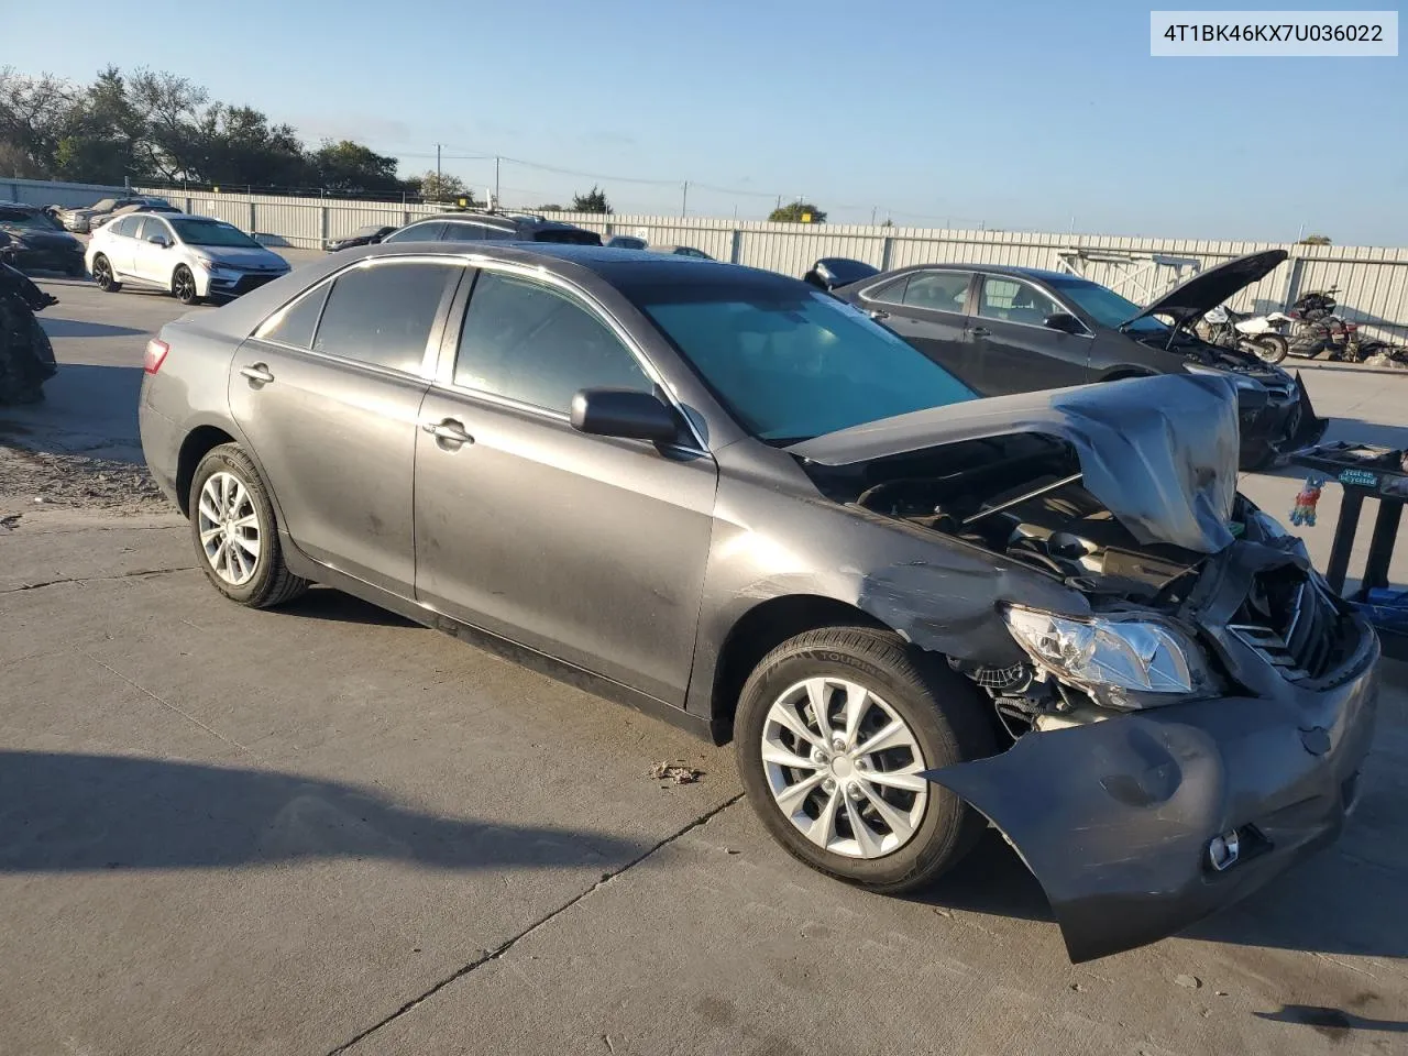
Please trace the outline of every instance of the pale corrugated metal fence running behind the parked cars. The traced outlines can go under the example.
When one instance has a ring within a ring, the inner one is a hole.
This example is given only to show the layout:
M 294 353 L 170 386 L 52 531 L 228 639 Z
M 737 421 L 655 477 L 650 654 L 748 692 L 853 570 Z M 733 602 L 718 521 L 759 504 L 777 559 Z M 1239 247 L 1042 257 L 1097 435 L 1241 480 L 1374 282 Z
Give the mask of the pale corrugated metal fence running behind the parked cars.
M 120 187 L 0 180 L 20 201 L 86 204 Z M 398 201 L 342 201 L 337 199 L 275 197 L 266 194 L 176 193 L 149 189 L 173 204 L 227 220 L 258 234 L 269 245 L 318 249 L 365 224 L 406 224 L 435 215 L 435 206 Z M 850 256 L 880 269 L 912 263 L 1004 263 L 1060 268 L 1077 260 L 1087 277 L 1112 286 L 1133 301 L 1148 303 L 1193 270 L 1209 268 L 1274 242 L 1218 242 L 1184 238 L 1119 235 L 1062 235 L 1011 231 L 950 231 L 934 228 L 845 224 L 767 224 L 705 217 L 622 217 L 559 213 L 603 235 L 639 235 L 658 245 L 691 245 L 719 260 L 803 275 L 822 256 Z M 1239 310 L 1286 308 L 1308 290 L 1339 287 L 1343 314 L 1364 332 L 1390 339 L 1408 338 L 1408 248 L 1284 245 L 1290 259 L 1233 301 Z M 1133 262 L 1100 259 L 1135 256 Z M 1183 268 L 1177 262 L 1186 262 Z

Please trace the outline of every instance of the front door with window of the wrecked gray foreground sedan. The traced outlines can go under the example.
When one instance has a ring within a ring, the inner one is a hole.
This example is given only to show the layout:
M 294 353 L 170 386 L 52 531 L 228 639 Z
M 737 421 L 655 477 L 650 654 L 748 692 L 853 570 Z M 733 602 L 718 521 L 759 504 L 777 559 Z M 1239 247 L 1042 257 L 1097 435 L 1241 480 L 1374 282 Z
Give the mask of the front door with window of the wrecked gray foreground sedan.
M 421 408 L 415 596 L 681 704 L 717 470 L 573 429 L 573 393 L 601 386 L 653 383 L 594 307 L 545 277 L 479 273 Z

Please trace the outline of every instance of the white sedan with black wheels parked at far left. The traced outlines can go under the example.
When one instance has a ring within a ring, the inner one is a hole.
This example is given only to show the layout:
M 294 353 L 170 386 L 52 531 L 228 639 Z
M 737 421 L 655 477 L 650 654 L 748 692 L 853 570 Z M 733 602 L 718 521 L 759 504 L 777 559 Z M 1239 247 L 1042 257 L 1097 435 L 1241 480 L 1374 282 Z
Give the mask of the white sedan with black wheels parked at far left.
M 289 272 L 287 260 L 234 224 L 184 213 L 118 217 L 93 232 L 86 259 L 108 293 L 132 283 L 182 304 L 230 300 Z

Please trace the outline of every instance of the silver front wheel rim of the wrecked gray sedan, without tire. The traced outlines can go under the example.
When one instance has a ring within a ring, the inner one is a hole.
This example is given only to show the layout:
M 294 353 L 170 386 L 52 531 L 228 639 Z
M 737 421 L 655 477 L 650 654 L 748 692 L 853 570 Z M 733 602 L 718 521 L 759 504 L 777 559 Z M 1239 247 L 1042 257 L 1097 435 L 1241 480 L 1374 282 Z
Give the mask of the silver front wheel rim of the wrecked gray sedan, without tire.
M 767 710 L 763 770 L 788 821 L 846 857 L 890 855 L 914 836 L 929 803 L 918 738 L 859 683 L 798 681 Z

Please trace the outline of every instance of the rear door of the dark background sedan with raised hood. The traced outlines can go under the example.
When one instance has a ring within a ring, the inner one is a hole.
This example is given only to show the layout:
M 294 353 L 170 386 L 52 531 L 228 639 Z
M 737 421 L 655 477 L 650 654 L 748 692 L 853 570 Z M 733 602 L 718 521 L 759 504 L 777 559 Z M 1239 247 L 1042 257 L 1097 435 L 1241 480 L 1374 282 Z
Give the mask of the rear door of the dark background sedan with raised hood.
M 973 272 L 935 268 L 910 272 L 865 293 L 872 317 L 939 366 L 977 384 L 977 365 L 967 342 L 967 303 Z

